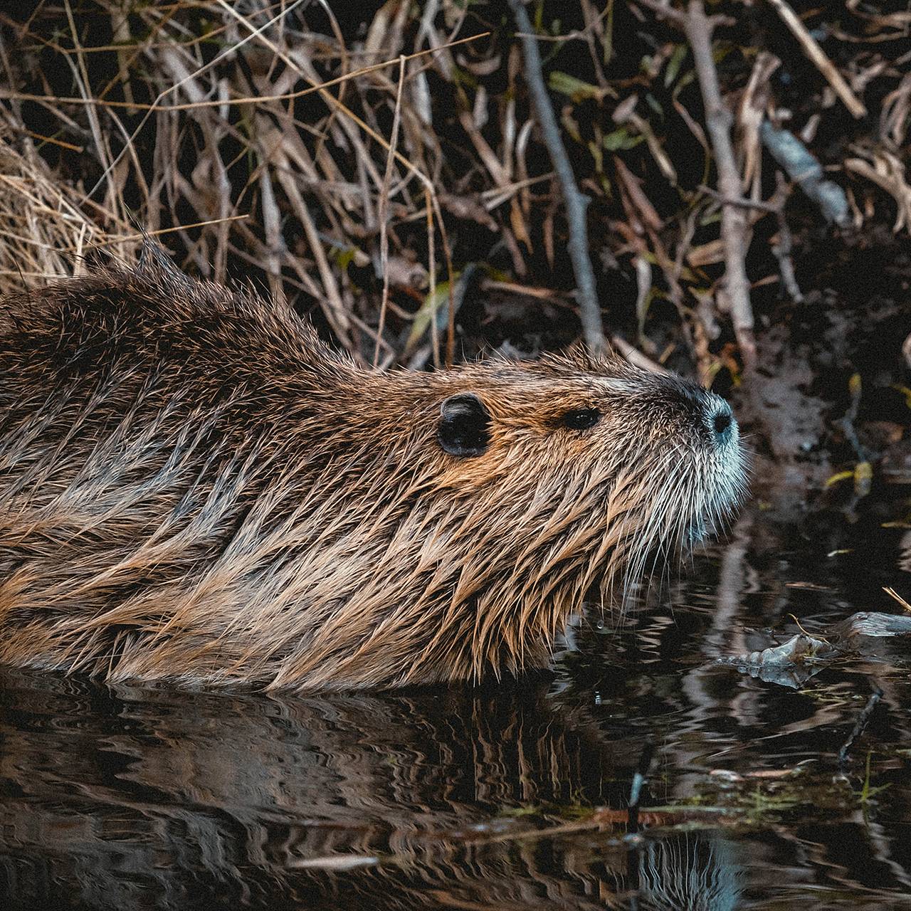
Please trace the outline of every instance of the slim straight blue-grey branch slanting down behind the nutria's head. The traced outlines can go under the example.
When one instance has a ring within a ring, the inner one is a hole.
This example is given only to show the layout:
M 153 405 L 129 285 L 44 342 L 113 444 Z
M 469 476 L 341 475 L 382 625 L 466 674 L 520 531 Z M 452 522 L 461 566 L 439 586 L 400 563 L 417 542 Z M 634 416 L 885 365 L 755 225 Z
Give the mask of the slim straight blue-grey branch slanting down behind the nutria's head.
M 567 210 L 569 230 L 569 259 L 578 287 L 579 315 L 582 319 L 582 330 L 585 341 L 592 351 L 603 351 L 606 347 L 604 329 L 601 325 L 601 308 L 595 290 L 595 273 L 589 259 L 589 230 L 586 225 L 585 210 L 589 200 L 582 195 L 576 185 L 576 178 L 569 164 L 567 150 L 560 138 L 560 130 L 554 109 L 550 105 L 548 89 L 544 85 L 541 73 L 541 55 L 537 50 L 537 39 L 528 19 L 523 0 L 509 0 L 509 6 L 516 17 L 518 35 L 522 42 L 522 53 L 525 56 L 525 77 L 528 91 L 535 106 L 537 122 L 548 147 L 550 159 L 560 181 L 563 201 Z M 517 35 L 517 36 L 518 36 Z

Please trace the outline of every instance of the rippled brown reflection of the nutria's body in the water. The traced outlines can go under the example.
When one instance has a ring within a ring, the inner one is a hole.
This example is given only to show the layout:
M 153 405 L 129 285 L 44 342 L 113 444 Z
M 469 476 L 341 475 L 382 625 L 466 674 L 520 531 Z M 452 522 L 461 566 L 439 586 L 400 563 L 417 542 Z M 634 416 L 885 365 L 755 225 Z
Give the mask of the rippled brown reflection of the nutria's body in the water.
M 288 701 L 4 683 L 3 864 L 20 901 L 586 908 L 631 876 L 664 907 L 733 881 L 696 835 L 642 851 L 621 829 L 537 837 L 560 810 L 622 806 L 635 750 L 540 684 Z

